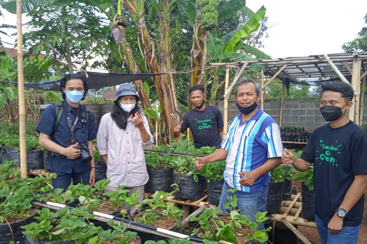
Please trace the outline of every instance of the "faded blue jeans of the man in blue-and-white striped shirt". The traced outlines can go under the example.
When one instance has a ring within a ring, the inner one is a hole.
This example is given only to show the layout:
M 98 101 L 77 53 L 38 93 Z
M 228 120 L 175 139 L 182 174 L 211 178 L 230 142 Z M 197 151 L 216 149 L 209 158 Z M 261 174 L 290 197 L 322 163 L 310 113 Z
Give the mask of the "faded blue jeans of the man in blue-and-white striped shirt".
M 227 190 L 233 189 L 231 188 L 226 181 L 224 181 L 221 200 L 219 202 L 219 209 L 221 211 L 230 213 L 230 210 L 224 207 L 224 204 L 228 202 L 227 196 L 232 195 L 232 193 L 227 192 Z M 237 209 L 241 214 L 247 216 L 247 218 L 251 222 L 256 222 L 255 215 L 257 212 L 266 211 L 266 195 L 268 195 L 268 185 L 264 185 L 262 192 L 244 192 L 244 191 L 236 191 L 235 195 L 237 196 Z M 264 222 L 259 224 L 258 230 L 263 230 Z M 266 241 L 264 242 L 266 244 Z

